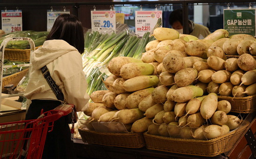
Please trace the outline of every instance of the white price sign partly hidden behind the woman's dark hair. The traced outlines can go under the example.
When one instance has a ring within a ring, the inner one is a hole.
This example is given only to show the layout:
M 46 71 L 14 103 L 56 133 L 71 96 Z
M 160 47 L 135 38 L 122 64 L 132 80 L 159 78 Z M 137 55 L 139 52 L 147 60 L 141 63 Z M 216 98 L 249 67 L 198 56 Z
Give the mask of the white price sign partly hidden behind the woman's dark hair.
M 56 18 L 61 15 L 61 14 L 70 14 L 70 11 L 63 11 L 63 10 L 47 10 L 47 31 L 51 31 L 52 26 L 54 24 L 54 21 L 56 20 Z

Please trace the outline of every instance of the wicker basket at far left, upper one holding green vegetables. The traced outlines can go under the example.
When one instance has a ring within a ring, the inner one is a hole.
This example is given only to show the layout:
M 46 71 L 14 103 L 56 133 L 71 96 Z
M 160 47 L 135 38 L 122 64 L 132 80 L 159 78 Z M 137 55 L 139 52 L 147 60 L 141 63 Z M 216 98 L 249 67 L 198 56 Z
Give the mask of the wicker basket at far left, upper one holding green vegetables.
M 40 47 L 40 46 L 39 46 Z M 35 49 L 38 49 L 36 47 Z M 24 61 L 29 62 L 30 60 L 30 49 L 5 49 L 5 59 L 11 61 Z

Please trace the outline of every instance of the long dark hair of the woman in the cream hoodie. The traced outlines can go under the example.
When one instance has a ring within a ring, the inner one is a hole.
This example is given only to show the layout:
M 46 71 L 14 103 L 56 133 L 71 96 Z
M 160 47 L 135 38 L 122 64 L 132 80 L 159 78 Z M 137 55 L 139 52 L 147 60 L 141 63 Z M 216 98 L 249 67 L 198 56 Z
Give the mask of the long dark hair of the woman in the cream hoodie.
M 84 51 L 84 39 L 81 21 L 72 14 L 59 15 L 46 38 L 46 40 L 53 39 L 65 40 L 82 54 Z

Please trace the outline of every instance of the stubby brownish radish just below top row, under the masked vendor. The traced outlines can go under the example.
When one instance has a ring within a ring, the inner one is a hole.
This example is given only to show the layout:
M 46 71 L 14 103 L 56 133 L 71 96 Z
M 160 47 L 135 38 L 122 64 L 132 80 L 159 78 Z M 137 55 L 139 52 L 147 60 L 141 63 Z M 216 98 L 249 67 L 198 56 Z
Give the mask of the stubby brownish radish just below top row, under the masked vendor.
M 205 46 L 205 44 L 196 40 L 185 43 L 185 52 L 189 56 L 207 58 L 207 50 L 208 48 Z

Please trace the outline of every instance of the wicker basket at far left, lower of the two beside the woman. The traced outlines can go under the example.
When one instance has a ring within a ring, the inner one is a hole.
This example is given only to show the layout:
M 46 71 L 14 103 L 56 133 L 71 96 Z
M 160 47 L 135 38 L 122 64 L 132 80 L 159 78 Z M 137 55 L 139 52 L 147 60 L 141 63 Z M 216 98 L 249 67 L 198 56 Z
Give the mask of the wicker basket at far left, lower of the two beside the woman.
M 18 82 L 22 80 L 22 78 L 28 73 L 28 71 L 29 71 L 29 68 L 23 71 L 17 72 L 15 74 L 3 77 L 2 91 L 6 90 L 4 86 L 7 84 L 13 84 L 13 86 L 16 86 Z

